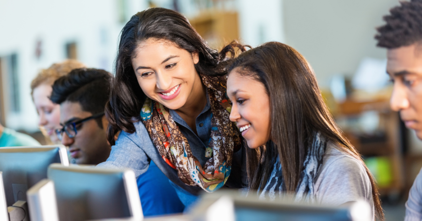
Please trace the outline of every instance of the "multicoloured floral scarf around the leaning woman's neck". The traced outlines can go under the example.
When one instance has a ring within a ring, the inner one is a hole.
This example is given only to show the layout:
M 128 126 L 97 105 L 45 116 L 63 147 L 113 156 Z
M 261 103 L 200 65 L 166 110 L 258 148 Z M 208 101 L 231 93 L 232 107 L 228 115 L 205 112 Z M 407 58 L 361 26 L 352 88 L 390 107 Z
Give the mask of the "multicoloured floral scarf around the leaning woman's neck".
M 222 187 L 229 178 L 233 152 L 241 147 L 239 129 L 229 120 L 230 100 L 226 94 L 227 75 L 201 75 L 211 104 L 211 138 L 202 167 L 193 156 L 188 140 L 177 127 L 169 109 L 149 98 L 141 110 L 142 122 L 163 160 L 177 170 L 183 183 L 207 192 Z

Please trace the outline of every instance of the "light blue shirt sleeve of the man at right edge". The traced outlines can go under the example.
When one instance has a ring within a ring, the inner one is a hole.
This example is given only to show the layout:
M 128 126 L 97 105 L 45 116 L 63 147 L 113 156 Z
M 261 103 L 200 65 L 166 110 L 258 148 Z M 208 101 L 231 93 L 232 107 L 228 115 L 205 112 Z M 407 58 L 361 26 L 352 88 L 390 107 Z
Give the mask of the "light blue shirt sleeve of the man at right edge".
M 406 202 L 406 216 L 404 221 L 422 220 L 422 169 L 410 188 L 409 198 Z

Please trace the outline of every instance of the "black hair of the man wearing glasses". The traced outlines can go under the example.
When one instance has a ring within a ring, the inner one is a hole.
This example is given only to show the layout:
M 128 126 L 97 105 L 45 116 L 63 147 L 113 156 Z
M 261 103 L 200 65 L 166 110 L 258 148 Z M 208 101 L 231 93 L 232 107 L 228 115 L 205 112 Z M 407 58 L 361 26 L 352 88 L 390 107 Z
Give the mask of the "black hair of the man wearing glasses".
M 55 104 L 78 102 L 83 111 L 93 115 L 104 112 L 110 94 L 111 78 L 110 73 L 100 69 L 73 69 L 54 81 L 50 100 Z M 103 128 L 101 118 L 95 120 Z

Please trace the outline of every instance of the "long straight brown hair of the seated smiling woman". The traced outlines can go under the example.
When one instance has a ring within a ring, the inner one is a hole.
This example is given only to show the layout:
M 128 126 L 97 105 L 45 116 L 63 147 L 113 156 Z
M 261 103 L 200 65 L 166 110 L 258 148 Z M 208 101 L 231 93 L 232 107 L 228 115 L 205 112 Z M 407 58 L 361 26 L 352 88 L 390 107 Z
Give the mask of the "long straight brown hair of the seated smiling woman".
M 328 111 L 314 71 L 295 49 L 280 42 L 267 42 L 235 58 L 228 72 L 233 69 L 264 84 L 270 98 L 270 141 L 265 147 L 246 148 L 249 189 L 264 188 L 278 155 L 285 188 L 295 192 L 314 131 L 319 131 L 339 150 L 365 166 Z M 372 186 L 376 216 L 384 220 L 378 188 L 369 169 L 365 168 Z

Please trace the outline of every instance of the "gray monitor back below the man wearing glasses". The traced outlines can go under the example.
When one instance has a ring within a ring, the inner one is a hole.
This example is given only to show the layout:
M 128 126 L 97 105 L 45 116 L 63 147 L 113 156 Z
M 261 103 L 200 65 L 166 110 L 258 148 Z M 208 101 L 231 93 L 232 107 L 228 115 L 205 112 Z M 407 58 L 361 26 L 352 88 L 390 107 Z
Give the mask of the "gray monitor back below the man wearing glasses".
M 54 182 L 60 221 L 143 217 L 131 170 L 53 164 L 48 179 Z

